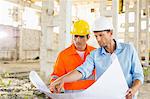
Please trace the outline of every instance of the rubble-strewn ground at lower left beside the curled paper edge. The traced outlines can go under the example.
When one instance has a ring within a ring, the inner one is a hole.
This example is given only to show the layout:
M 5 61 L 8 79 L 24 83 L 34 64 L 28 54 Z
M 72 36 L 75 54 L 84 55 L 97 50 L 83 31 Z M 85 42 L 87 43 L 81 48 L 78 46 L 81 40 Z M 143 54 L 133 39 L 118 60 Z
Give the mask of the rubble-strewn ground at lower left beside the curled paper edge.
M 21 73 L 17 73 L 19 75 Z M 47 97 L 39 92 L 26 76 L 12 77 L 11 75 L 0 75 L 0 99 L 46 99 Z M 21 74 L 22 75 L 22 74 Z

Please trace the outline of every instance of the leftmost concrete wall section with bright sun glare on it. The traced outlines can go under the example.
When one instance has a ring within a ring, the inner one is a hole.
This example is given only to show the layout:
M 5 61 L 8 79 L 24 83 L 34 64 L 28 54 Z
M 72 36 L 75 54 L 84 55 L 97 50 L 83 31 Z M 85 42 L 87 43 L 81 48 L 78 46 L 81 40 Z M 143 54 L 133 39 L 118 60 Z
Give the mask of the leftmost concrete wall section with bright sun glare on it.
M 0 25 L 0 60 L 16 58 L 17 28 Z

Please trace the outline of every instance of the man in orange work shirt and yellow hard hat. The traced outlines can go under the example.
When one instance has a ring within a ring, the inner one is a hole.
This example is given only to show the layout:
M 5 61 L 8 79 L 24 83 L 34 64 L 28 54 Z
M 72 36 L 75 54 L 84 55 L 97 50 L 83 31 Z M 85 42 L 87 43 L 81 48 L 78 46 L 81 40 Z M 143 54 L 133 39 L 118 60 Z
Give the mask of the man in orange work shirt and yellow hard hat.
M 73 44 L 61 51 L 54 64 L 54 71 L 51 74 L 53 82 L 62 75 L 74 70 L 80 66 L 86 59 L 86 56 L 95 48 L 87 45 L 87 40 L 90 38 L 89 24 L 84 20 L 79 20 L 74 23 L 71 31 L 73 36 Z M 64 92 L 77 92 L 88 88 L 95 81 L 93 74 L 86 80 L 79 80 L 71 83 L 64 83 Z M 52 91 L 52 90 L 51 90 Z

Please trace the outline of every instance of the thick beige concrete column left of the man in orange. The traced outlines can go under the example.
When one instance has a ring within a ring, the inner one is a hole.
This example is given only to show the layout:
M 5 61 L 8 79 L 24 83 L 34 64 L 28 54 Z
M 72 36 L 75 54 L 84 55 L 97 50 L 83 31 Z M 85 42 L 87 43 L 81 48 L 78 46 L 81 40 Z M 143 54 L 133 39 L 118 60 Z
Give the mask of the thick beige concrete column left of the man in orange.
M 44 0 L 42 2 L 41 13 L 41 44 L 40 44 L 40 73 L 43 77 L 48 78 L 51 70 L 48 62 L 48 47 L 53 42 L 53 26 L 49 26 L 53 20 L 54 0 Z M 48 80 L 47 80 L 48 81 Z

